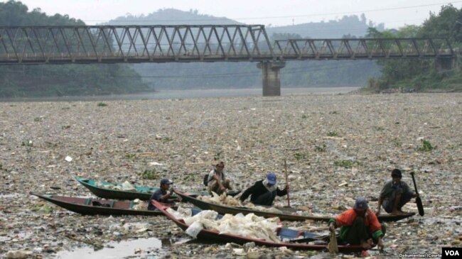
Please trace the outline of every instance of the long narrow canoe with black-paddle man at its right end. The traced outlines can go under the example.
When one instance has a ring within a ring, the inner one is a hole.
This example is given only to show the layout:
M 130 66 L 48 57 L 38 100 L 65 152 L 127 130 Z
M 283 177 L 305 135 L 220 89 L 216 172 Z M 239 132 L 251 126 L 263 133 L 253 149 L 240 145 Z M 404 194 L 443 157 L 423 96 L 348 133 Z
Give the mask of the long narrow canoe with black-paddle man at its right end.
M 213 204 L 210 202 L 205 202 L 203 200 L 197 199 L 194 195 L 190 195 L 188 193 L 183 193 L 178 190 L 175 190 L 175 193 L 183 199 L 183 202 L 190 202 L 194 204 L 194 206 L 198 206 L 200 209 L 210 209 L 213 211 L 217 211 L 219 214 L 249 214 L 253 213 L 257 216 L 263 216 L 265 218 L 272 218 L 278 217 L 281 221 L 305 221 L 305 220 L 313 220 L 313 221 L 329 221 L 332 217 L 331 216 L 302 216 L 296 215 L 296 209 L 293 208 L 281 208 L 276 207 L 282 211 L 282 213 L 274 213 L 268 211 L 257 211 L 252 210 L 242 206 L 225 206 L 221 204 Z M 269 207 L 269 206 L 266 206 Z M 406 215 L 390 215 L 384 214 L 379 216 L 379 221 L 387 222 L 387 221 L 399 221 L 400 219 L 406 219 L 409 216 L 413 216 L 415 213 L 406 214 Z

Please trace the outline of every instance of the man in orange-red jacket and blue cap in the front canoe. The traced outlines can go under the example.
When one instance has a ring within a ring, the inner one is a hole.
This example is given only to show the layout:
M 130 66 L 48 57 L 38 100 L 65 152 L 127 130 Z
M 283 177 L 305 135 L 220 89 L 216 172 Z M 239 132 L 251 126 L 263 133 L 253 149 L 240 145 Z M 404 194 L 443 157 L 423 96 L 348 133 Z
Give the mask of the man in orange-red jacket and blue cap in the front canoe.
M 367 205 L 364 197 L 358 197 L 352 208 L 335 216 L 328 223 L 333 231 L 340 227 L 340 239 L 350 245 L 360 245 L 365 250 L 372 248 L 374 243 L 383 250 L 382 237 L 385 226 L 382 226 L 375 213 Z

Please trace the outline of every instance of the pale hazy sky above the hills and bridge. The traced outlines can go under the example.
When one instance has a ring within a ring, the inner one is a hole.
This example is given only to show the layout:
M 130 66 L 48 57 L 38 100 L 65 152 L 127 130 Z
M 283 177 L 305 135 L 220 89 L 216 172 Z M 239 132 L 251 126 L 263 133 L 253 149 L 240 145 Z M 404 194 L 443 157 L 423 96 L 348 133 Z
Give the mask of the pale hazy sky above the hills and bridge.
M 2 1 L 5 2 L 5 1 Z M 385 28 L 405 24 L 420 25 L 429 12 L 438 13 L 441 5 L 452 3 L 458 9 L 462 1 L 444 0 L 22 0 L 29 11 L 35 8 L 48 15 L 68 14 L 88 25 L 107 22 L 127 13 L 147 15 L 158 9 L 182 11 L 197 9 L 201 14 L 232 18 L 242 23 L 272 26 L 329 21 L 344 15 L 365 13 L 368 20 L 385 23 Z

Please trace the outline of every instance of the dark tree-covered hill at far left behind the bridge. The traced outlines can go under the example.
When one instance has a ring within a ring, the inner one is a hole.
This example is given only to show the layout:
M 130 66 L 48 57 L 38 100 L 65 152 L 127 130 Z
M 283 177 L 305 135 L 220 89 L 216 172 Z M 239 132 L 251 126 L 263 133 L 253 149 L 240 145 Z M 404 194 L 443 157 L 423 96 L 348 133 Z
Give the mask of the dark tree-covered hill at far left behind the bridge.
M 66 15 L 47 16 L 20 1 L 0 3 L 0 26 L 85 25 Z M 0 48 L 0 53 L 4 49 Z M 0 98 L 126 94 L 152 91 L 128 65 L 3 65 Z

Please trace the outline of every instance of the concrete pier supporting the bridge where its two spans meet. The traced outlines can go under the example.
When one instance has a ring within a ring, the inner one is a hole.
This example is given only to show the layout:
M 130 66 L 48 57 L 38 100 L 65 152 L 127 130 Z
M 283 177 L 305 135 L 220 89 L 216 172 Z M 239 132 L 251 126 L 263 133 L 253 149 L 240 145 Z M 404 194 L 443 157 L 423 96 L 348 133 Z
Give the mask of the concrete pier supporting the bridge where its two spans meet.
M 262 86 L 264 97 L 281 96 L 281 79 L 279 70 L 286 66 L 284 61 L 259 62 L 257 67 L 262 70 Z

